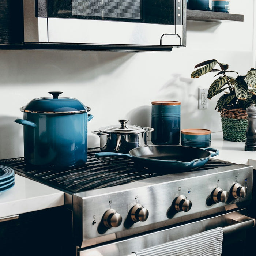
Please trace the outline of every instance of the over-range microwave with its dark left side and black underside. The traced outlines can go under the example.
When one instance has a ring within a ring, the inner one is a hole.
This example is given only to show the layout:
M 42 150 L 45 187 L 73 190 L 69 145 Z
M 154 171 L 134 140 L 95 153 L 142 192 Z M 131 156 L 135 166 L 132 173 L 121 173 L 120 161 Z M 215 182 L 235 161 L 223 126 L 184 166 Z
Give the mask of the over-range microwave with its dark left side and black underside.
M 186 46 L 186 0 L 1 2 L 0 49 L 170 51 Z

